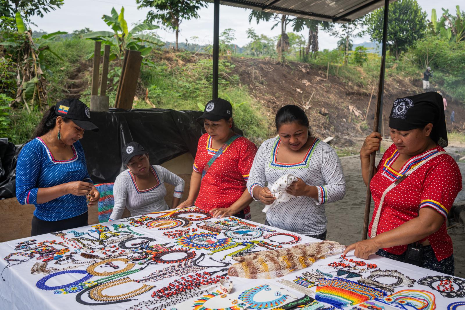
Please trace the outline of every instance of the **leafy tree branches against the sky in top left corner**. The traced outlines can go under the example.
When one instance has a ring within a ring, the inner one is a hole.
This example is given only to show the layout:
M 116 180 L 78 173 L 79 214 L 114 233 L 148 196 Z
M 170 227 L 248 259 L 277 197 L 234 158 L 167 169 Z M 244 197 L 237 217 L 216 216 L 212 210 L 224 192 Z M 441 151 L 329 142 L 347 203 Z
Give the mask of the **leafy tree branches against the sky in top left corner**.
M 0 1 L 0 29 L 16 27 L 16 12 L 20 12 L 26 24 L 31 24 L 31 17 L 44 17 L 45 13 L 56 10 L 64 0 L 2 0 Z

